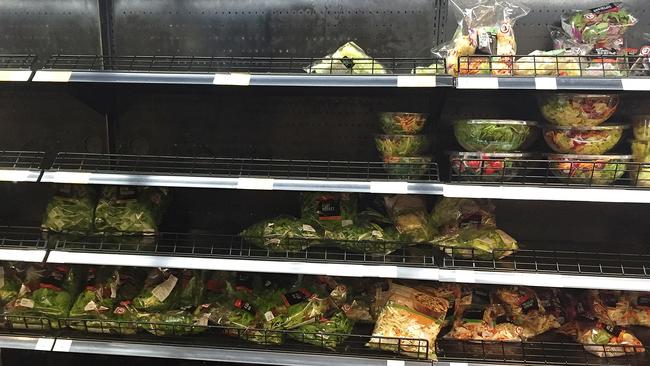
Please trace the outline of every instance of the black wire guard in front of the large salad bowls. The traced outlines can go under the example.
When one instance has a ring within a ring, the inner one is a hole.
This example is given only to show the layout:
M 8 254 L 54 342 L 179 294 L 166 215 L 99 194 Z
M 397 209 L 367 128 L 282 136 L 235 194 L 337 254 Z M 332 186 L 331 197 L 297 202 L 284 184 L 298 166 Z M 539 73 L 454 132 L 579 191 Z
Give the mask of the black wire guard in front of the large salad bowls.
M 621 160 L 452 157 L 451 182 L 563 187 L 650 187 L 650 164 Z

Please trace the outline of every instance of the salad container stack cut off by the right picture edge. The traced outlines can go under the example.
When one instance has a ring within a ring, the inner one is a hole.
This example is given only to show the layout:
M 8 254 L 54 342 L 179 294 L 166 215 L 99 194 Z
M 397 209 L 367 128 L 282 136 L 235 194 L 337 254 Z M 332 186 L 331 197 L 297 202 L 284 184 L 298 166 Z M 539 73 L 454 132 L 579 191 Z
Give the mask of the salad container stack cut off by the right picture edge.
M 650 187 L 650 115 L 636 116 L 632 123 L 632 156 L 635 162 L 640 163 L 630 170 L 632 182 L 640 187 Z

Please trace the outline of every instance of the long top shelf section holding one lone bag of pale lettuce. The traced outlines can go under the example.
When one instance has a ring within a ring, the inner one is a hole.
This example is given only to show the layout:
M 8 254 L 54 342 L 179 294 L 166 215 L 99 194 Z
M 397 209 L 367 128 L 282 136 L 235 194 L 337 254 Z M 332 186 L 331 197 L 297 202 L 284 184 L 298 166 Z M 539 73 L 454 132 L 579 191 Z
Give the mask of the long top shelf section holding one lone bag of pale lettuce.
M 312 70 L 317 58 L 55 55 L 34 75 L 36 82 L 199 84 L 304 87 L 452 87 L 447 75 L 413 75 L 418 66 L 440 60 L 390 58 L 355 60 L 364 75 L 334 59 Z M 382 66 L 379 66 L 382 65 Z M 385 69 L 389 71 L 385 73 Z M 350 69 L 351 70 L 351 69 Z M 313 72 L 312 72 L 313 71 Z

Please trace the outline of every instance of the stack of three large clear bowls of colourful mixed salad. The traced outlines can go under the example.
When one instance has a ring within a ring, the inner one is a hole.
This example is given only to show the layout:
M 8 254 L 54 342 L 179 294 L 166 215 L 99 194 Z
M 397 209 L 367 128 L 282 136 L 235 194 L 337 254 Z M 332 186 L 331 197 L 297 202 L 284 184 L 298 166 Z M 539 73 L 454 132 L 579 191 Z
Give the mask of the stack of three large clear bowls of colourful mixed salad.
M 631 155 L 606 155 L 620 142 L 628 127 L 603 124 L 616 112 L 618 95 L 553 93 L 539 97 L 549 125 L 544 140 L 550 169 L 562 182 L 609 185 L 626 172 Z M 621 164 L 622 163 L 622 164 Z

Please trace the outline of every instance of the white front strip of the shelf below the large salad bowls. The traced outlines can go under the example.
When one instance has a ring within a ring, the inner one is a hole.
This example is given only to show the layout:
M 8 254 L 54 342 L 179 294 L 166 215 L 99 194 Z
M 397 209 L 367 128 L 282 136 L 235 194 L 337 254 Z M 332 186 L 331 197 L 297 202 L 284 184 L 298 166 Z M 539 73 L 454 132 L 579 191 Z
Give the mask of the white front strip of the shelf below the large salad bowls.
M 444 184 L 445 197 L 545 201 L 650 203 L 650 190 L 615 188 L 511 187 Z

